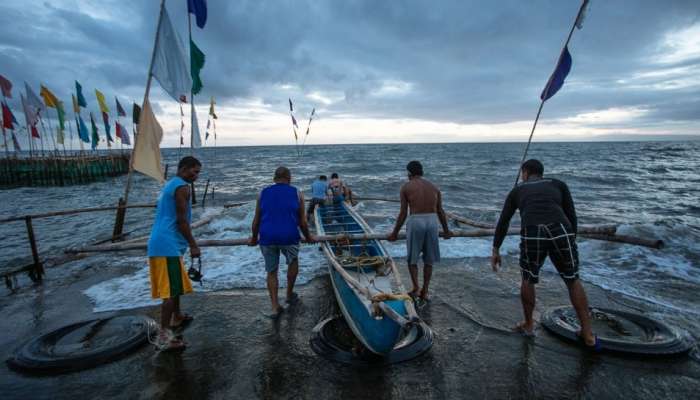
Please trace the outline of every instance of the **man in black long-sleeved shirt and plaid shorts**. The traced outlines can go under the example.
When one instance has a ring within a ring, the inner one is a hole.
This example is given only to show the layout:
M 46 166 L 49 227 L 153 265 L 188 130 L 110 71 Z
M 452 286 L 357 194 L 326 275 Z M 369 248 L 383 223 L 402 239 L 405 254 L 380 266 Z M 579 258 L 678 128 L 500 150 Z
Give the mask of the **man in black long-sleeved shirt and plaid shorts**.
M 525 321 L 515 329 L 533 335 L 535 309 L 535 284 L 545 259 L 549 259 L 569 289 L 569 298 L 576 309 L 581 331 L 579 335 L 587 346 L 596 347 L 596 337 L 591 332 L 588 300 L 578 279 L 578 250 L 576 247 L 576 210 L 566 184 L 557 179 L 543 178 L 544 166 L 538 160 L 528 160 L 521 167 L 522 182 L 510 191 L 498 219 L 493 239 L 491 267 L 498 270 L 501 264 L 499 248 L 503 244 L 510 219 L 520 210 L 520 269 L 522 282 L 520 297 Z

